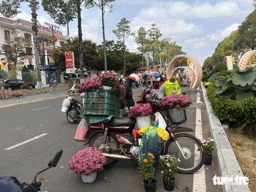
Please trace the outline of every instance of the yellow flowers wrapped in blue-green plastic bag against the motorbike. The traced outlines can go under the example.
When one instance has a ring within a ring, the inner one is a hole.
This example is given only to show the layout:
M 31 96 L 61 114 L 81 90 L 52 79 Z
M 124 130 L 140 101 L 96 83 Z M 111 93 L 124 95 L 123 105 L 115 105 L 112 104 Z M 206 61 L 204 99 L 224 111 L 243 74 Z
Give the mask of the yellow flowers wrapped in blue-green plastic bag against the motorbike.
M 158 125 L 159 123 L 156 121 L 151 126 L 140 129 L 139 133 L 142 135 L 139 148 L 140 159 L 142 158 L 141 154 L 147 154 L 149 152 L 154 155 L 155 162 L 157 162 L 163 149 L 164 142 L 169 138 L 169 133 L 158 127 Z

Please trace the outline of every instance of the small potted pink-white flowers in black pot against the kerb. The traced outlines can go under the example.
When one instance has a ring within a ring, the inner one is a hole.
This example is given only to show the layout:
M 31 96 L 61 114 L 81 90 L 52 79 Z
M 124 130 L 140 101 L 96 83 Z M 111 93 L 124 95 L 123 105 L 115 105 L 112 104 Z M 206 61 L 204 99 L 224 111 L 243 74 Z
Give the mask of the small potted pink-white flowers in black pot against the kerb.
M 204 160 L 204 164 L 211 165 L 211 161 L 213 159 L 213 152 L 217 144 L 215 140 L 211 138 L 208 138 L 207 140 L 206 139 L 200 139 L 200 140 L 204 146 L 204 151 L 206 152 L 206 159 Z

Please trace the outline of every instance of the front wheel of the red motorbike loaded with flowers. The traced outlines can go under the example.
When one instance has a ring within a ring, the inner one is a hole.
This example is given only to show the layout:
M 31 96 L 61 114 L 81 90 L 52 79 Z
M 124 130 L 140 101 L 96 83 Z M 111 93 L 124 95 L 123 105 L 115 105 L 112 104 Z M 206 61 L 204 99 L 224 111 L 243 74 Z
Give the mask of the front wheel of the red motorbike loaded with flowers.
M 171 139 L 166 144 L 164 154 L 180 158 L 181 161 L 178 163 L 177 172 L 190 174 L 198 171 L 203 166 L 206 157 L 206 152 L 202 151 L 204 149 L 202 143 L 199 139 L 187 133 L 180 133 L 175 136 L 186 155 L 186 159 L 183 159 L 176 144 Z

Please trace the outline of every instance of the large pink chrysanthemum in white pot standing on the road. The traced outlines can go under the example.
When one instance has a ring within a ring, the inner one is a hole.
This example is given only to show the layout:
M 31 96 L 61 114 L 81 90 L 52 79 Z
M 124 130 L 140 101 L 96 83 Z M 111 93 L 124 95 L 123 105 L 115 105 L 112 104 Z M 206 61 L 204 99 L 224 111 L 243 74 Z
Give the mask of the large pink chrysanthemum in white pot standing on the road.
M 103 170 L 106 164 L 106 156 L 94 147 L 88 147 L 78 151 L 69 162 L 69 169 L 74 174 L 81 174 L 85 183 L 90 183 L 96 179 L 97 172 Z

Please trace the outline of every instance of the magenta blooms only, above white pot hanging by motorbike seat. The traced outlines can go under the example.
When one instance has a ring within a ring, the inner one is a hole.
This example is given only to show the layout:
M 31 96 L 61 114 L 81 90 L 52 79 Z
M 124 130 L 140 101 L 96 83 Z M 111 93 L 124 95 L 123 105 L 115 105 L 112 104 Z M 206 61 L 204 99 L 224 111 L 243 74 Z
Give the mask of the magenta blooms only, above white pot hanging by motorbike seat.
M 129 111 L 130 117 L 143 117 L 148 116 L 153 112 L 153 109 L 150 104 L 137 104 Z

